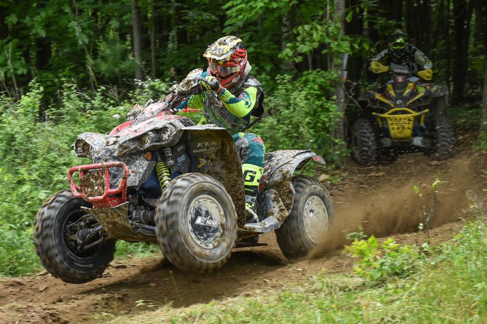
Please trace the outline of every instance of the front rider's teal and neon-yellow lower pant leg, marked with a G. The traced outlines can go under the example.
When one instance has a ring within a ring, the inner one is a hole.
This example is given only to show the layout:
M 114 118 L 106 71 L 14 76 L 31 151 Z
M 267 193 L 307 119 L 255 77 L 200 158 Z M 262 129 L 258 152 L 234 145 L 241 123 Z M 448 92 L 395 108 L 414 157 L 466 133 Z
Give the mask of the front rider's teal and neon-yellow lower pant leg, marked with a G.
M 262 176 L 265 147 L 264 141 L 253 133 L 237 133 L 233 136 L 237 153 L 242 160 L 245 194 L 255 196 Z

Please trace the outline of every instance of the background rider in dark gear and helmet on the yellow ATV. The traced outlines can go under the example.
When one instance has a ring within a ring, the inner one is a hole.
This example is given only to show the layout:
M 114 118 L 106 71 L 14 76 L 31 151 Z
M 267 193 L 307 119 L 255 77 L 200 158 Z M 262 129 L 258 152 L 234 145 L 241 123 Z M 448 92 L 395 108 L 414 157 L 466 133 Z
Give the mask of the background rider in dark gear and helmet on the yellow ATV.
M 415 75 L 420 68 L 430 76 L 433 74 L 431 60 L 416 46 L 408 44 L 408 34 L 401 29 L 395 30 L 389 36 L 389 47 L 373 57 L 371 61 L 381 62 L 389 67 L 399 65 L 403 70 Z M 417 82 L 419 78 L 411 77 L 409 80 Z

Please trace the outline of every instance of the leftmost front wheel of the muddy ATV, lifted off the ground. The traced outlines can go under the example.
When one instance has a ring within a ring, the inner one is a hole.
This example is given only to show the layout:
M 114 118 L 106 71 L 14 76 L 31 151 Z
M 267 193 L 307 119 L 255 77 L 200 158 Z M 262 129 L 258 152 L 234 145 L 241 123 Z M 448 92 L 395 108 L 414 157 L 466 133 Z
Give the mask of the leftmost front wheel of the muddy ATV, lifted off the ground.
M 101 242 L 81 252 L 77 237 L 83 236 L 97 223 L 86 218 L 81 207 L 92 207 L 71 191 L 63 190 L 50 196 L 35 217 L 35 252 L 44 268 L 54 277 L 71 284 L 83 284 L 101 275 L 113 260 L 115 241 Z M 93 233 L 90 243 L 101 239 Z

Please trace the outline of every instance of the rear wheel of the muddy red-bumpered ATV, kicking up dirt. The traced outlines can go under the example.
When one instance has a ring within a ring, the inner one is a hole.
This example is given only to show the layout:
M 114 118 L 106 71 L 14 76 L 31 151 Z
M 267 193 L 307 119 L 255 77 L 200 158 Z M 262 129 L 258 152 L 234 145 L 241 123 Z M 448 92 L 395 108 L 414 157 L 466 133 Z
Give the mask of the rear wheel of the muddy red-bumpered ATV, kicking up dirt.
M 292 178 L 292 186 L 295 194 L 291 212 L 275 230 L 277 244 L 288 259 L 311 251 L 335 218 L 330 195 L 318 180 L 300 175 Z

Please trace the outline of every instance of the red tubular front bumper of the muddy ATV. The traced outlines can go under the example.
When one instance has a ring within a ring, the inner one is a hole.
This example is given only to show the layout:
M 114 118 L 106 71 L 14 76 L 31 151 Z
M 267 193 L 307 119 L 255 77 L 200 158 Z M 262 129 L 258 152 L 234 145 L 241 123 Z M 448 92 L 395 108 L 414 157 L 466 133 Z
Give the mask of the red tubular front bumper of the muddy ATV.
M 123 175 L 120 183 L 115 189 L 110 189 L 110 168 L 121 167 L 123 169 Z M 87 171 L 100 169 L 103 175 L 103 194 L 97 196 L 88 196 L 86 193 L 85 175 Z M 79 173 L 78 186 L 73 181 L 74 172 Z M 123 162 L 106 162 L 96 164 L 86 164 L 73 166 L 68 171 L 68 183 L 71 192 L 76 198 L 83 198 L 93 204 L 95 208 L 101 207 L 115 207 L 127 201 L 127 178 L 129 176 L 129 168 Z M 113 197 L 121 193 L 121 196 Z

